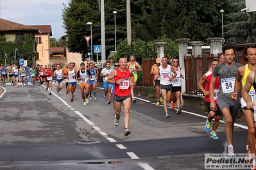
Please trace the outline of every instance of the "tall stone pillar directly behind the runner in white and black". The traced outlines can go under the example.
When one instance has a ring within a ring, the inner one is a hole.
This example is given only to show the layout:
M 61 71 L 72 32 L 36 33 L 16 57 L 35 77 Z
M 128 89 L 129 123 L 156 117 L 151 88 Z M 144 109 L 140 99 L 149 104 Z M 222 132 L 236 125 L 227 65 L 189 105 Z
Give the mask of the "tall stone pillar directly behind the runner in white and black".
M 179 64 L 180 67 L 182 68 L 182 75 L 185 77 L 185 65 L 184 65 L 184 56 L 187 54 L 187 44 L 189 43 L 190 39 L 189 38 L 180 38 L 176 39 L 175 42 L 178 43 L 178 54 L 179 54 Z M 186 77 L 184 78 L 186 79 Z M 186 88 L 185 88 L 185 81 L 182 81 L 182 94 L 185 93 Z M 183 105 L 183 98 L 182 95 L 180 97 L 180 105 Z

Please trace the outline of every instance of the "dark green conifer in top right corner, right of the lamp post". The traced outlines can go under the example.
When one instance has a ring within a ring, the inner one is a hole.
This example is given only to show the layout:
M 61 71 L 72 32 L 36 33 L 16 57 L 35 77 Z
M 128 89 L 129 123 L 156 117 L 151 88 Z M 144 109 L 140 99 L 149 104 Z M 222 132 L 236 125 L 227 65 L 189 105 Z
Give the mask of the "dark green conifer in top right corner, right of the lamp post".
M 228 5 L 234 12 L 226 15 L 228 24 L 225 24 L 226 43 L 256 42 L 256 12 L 241 12 L 245 8 L 245 1 L 228 0 Z

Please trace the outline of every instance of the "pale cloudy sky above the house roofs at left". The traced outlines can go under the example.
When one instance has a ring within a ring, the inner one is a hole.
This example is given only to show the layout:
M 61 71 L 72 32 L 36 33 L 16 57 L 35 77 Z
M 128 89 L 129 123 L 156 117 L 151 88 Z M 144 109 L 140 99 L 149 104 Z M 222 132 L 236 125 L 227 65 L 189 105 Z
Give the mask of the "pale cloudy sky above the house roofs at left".
M 0 0 L 1 19 L 26 26 L 51 25 L 52 36 L 64 36 L 62 10 L 69 0 Z

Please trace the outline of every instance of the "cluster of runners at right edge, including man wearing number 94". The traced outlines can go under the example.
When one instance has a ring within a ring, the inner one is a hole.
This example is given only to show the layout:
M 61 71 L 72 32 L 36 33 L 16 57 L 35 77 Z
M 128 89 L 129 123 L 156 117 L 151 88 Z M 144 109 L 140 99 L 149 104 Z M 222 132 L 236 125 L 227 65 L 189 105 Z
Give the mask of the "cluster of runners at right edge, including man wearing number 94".
M 246 145 L 247 159 L 252 162 L 255 169 L 255 69 L 256 69 L 256 44 L 248 45 L 243 51 L 244 60 L 248 63 L 241 65 L 234 61 L 235 48 L 230 45 L 223 47 L 223 54 L 218 59 L 213 59 L 207 73 L 198 82 L 198 88 L 205 95 L 208 116 L 205 123 L 205 131 L 210 132 L 211 121 L 214 118 L 210 138 L 218 139 L 216 130 L 221 115 L 225 118 L 225 136 L 223 143 L 223 157 L 235 157 L 233 146 L 234 123 L 239 112 L 244 114 L 248 126 L 248 144 Z M 205 87 L 203 88 L 203 84 Z

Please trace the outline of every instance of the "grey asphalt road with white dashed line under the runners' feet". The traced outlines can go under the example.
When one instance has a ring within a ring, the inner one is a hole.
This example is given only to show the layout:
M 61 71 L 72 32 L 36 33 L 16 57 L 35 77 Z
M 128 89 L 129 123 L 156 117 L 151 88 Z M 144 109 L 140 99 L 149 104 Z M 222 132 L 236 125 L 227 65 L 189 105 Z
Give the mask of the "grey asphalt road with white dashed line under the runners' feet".
M 222 153 L 224 124 L 218 140 L 205 132 L 206 114 L 182 107 L 178 115 L 136 95 L 130 111 L 132 134 L 123 135 L 124 116 L 114 126 L 113 105 L 103 89 L 98 101 L 83 105 L 79 86 L 70 102 L 41 86 L 1 87 L 0 169 L 204 169 L 205 153 Z M 122 108 L 123 109 L 123 108 Z M 123 111 L 123 110 L 122 110 Z M 235 153 L 246 153 L 247 130 L 237 121 Z

